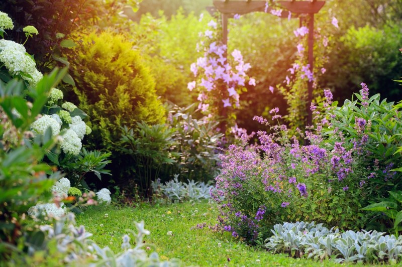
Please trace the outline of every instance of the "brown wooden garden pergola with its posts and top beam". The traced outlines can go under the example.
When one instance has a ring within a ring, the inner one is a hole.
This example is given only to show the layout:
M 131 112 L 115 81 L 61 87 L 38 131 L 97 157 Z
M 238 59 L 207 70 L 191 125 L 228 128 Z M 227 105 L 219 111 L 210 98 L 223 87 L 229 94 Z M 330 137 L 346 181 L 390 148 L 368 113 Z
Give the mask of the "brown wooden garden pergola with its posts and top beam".
M 233 18 L 236 14 L 244 15 L 252 12 L 265 12 L 265 5 L 267 1 L 252 1 L 252 0 L 214 0 L 214 7 L 209 7 L 207 10 L 210 13 L 220 12 L 222 16 L 223 28 L 223 43 L 228 43 L 228 19 Z M 281 13 L 281 18 L 288 18 L 291 13 L 291 18 L 299 18 L 300 26 L 302 26 L 302 19 L 309 17 L 309 39 L 308 39 L 308 62 L 310 70 L 313 72 L 314 65 L 314 14 L 318 13 L 325 5 L 325 1 L 276 1 L 276 4 L 281 6 L 284 10 Z M 267 13 L 270 13 L 271 7 L 268 7 Z M 305 15 L 305 16 L 303 16 Z M 307 124 L 312 125 L 312 111 L 310 110 L 310 103 L 313 100 L 313 81 L 308 82 L 308 103 L 307 103 Z

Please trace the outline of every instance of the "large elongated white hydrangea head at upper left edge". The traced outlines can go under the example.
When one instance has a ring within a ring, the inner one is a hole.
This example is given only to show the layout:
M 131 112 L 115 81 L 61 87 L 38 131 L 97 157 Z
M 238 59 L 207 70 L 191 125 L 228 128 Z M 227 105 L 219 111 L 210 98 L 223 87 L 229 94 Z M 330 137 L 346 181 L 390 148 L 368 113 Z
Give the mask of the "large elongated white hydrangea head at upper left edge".
M 43 77 L 36 69 L 35 61 L 26 54 L 25 47 L 9 40 L 0 40 L 0 61 L 12 75 L 20 73 L 29 74 L 32 78 L 23 77 L 31 85 L 36 85 Z

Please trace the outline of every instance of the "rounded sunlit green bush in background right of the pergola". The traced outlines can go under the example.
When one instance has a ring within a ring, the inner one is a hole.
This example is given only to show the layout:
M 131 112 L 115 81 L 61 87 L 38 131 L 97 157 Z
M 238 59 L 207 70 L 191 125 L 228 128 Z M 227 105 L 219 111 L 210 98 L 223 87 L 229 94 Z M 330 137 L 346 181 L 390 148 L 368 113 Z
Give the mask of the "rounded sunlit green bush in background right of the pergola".
M 400 28 L 400 23 L 394 22 L 360 28 L 352 25 L 338 37 L 340 42 L 329 55 L 323 86 L 331 88 L 337 99 L 345 99 L 351 93 L 348 88 L 365 81 L 373 93 L 399 101 L 402 94 L 391 80 L 402 73 L 402 57 L 397 52 L 402 43 Z

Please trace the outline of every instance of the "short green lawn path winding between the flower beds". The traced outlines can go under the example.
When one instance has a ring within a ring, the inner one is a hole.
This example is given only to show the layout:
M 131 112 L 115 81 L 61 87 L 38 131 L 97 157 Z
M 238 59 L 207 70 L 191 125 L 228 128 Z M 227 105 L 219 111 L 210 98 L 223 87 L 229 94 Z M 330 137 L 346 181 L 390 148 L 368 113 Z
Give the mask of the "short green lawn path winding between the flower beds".
M 133 222 L 144 220 L 145 228 L 151 231 L 146 242 L 156 246 L 162 259 L 179 258 L 185 266 L 340 265 L 329 261 L 293 259 L 285 254 L 273 255 L 239 242 L 230 233 L 213 232 L 208 226 L 190 229 L 204 222 L 215 225 L 217 214 L 216 205 L 207 201 L 154 206 L 141 204 L 136 208 L 98 206 L 77 215 L 76 221 L 78 225 L 85 225 L 86 230 L 93 234 L 92 240 L 100 246 L 109 246 L 118 252 L 122 236 L 127 233 L 125 230 L 135 230 Z M 168 231 L 172 231 L 172 235 L 168 235 Z

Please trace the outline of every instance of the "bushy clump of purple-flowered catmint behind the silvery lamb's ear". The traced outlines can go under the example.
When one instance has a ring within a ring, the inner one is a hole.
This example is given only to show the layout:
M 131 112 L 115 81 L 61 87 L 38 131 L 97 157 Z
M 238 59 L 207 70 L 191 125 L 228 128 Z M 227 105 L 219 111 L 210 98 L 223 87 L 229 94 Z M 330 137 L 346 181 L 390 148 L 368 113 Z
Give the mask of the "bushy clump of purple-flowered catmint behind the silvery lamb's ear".
M 335 118 L 336 103 L 330 91 L 325 96 L 319 109 L 312 106 L 315 127 L 306 132 L 296 129 L 298 136 L 290 136 L 286 125 L 271 125 L 255 116 L 270 128 L 258 131 L 260 145 L 231 145 L 221 156 L 222 173 L 216 178 L 218 190 L 213 197 L 221 204 L 219 221 L 224 230 L 256 242 L 285 220 L 314 220 L 343 229 L 359 229 L 367 223 L 360 208 L 370 197 L 366 184 L 372 170 L 363 163 L 371 122 L 356 117 L 348 125 L 356 131 L 350 138 L 341 130 L 342 120 L 328 122 L 327 117 Z M 278 121 L 279 110 L 270 112 Z

